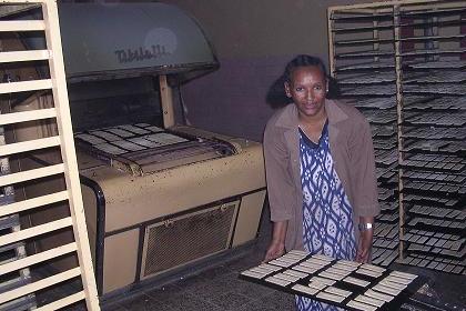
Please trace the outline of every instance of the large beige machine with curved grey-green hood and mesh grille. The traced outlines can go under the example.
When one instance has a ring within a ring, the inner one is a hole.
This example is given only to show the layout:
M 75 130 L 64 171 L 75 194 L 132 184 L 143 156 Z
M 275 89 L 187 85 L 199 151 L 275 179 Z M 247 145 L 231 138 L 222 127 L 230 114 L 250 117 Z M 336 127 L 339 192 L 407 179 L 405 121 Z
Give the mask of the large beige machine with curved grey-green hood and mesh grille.
M 99 293 L 131 289 L 253 240 L 265 198 L 261 144 L 183 124 L 183 83 L 219 66 L 199 24 L 163 3 L 63 3 L 59 14 Z M 41 39 L 22 41 L 40 47 Z M 36 69 L 47 76 L 40 63 Z M 44 108 L 50 100 L 34 93 L 14 110 Z M 42 122 L 14 134 L 55 131 Z M 34 154 L 21 167 L 57 157 Z M 62 183 L 49 179 L 26 187 L 24 194 Z M 63 212 L 58 204 L 29 221 Z M 67 234 L 44 237 L 36 248 Z M 61 264 L 67 260 L 73 259 Z

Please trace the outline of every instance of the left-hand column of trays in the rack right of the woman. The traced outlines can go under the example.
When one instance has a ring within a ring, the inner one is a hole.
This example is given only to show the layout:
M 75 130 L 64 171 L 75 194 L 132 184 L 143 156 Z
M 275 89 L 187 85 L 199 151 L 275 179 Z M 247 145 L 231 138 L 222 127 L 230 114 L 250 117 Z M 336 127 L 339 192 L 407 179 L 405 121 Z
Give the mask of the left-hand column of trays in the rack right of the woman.
M 384 207 L 375 220 L 376 228 L 396 225 L 397 229 L 398 140 L 394 19 L 392 10 L 381 13 L 378 9 L 362 12 L 348 7 L 328 12 L 333 61 L 331 69 L 332 77 L 338 82 L 341 99 L 356 107 L 371 124 L 378 200 Z M 374 259 L 378 264 L 386 267 L 396 259 L 398 234 L 375 234 L 374 242 Z

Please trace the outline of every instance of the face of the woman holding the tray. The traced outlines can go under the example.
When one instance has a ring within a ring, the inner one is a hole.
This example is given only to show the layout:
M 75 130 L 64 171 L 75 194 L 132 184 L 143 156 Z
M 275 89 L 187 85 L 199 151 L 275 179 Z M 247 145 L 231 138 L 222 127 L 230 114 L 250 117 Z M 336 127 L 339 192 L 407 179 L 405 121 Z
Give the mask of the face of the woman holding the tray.
M 285 82 L 285 91 L 297 107 L 300 117 L 313 118 L 324 113 L 327 81 L 318 67 L 295 68 Z

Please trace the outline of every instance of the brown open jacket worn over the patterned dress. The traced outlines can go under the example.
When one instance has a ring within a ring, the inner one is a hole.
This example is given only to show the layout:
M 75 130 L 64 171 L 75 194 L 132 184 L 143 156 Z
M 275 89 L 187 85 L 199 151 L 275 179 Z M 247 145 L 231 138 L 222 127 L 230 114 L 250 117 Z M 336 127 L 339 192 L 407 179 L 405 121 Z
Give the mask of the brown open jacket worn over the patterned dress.
M 335 170 L 353 207 L 357 229 L 359 217 L 376 215 L 377 181 L 374 148 L 367 120 L 354 107 L 326 100 L 328 138 Z M 300 172 L 297 109 L 288 104 L 267 122 L 264 157 L 272 221 L 288 221 L 286 250 L 303 249 L 303 191 Z M 355 230 L 358 241 L 358 230 Z

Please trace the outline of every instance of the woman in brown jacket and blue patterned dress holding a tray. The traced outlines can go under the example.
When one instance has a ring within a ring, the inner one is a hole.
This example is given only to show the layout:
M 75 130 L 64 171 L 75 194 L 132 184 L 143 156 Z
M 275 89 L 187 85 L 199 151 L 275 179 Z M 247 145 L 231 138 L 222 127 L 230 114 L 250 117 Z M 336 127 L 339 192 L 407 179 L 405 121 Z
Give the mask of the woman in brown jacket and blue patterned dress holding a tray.
M 326 99 L 323 62 L 298 56 L 285 70 L 293 101 L 267 122 L 264 154 L 272 242 L 265 260 L 292 249 L 368 262 L 378 213 L 369 124 L 353 107 Z M 298 310 L 332 310 L 296 297 Z

